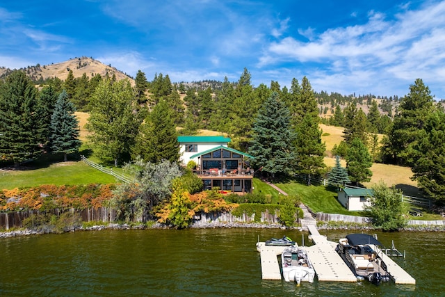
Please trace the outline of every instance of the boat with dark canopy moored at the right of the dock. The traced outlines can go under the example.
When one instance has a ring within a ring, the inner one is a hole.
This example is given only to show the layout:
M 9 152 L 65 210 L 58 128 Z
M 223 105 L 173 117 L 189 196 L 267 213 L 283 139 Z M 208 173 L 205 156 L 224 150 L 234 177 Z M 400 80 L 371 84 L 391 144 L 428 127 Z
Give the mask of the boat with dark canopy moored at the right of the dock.
M 379 255 L 382 252 L 379 246 L 382 246 L 382 243 L 369 234 L 349 234 L 339 240 L 336 250 L 357 280 L 366 278 L 373 284 L 394 281 Z

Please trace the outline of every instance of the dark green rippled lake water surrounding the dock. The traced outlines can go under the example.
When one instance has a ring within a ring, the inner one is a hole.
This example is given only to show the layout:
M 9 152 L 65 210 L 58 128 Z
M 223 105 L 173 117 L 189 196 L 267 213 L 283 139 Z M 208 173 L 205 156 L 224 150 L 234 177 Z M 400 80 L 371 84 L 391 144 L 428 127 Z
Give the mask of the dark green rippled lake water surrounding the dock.
M 327 232 L 337 241 L 348 232 Z M 0 296 L 445 296 L 444 232 L 378 233 L 416 285 L 261 280 L 257 238 L 285 230 L 116 230 L 0 241 Z M 305 243 L 307 234 L 305 234 Z

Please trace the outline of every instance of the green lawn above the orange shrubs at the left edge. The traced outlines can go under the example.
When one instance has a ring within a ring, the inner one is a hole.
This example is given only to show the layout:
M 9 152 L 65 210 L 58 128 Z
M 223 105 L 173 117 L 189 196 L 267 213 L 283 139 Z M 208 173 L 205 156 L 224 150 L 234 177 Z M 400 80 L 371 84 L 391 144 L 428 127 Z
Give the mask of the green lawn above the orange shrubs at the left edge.
M 32 165 L 32 164 L 30 164 Z M 24 188 L 40 184 L 110 184 L 115 177 L 81 161 L 51 163 L 29 170 L 0 171 L 0 189 Z

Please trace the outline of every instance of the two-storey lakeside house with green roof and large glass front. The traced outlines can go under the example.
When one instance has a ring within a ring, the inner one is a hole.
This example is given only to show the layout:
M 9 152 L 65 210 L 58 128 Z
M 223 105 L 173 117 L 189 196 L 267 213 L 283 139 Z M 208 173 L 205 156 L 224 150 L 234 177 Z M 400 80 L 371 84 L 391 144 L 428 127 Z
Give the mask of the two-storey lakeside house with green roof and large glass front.
M 253 156 L 228 147 L 230 138 L 223 136 L 179 136 L 181 163 L 193 160 L 195 173 L 204 183 L 204 190 L 251 193 L 253 170 L 248 159 Z

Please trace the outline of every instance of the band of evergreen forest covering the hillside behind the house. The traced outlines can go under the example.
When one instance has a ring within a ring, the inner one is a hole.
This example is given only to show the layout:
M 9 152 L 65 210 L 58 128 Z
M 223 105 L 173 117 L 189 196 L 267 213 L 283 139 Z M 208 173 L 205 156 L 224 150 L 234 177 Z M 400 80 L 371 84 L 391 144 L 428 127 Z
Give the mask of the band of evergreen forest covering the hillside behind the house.
M 289 88 L 277 81 L 253 86 L 246 68 L 236 82 L 225 77 L 222 83 L 172 83 L 168 74 L 154 74 L 149 80 L 141 71 L 133 81 L 110 66 L 105 74 L 82 72 L 92 62 L 96 61 L 70 60 L 76 70 L 61 70 L 65 79 L 42 76 L 35 81 L 31 68 L 8 72 L 1 79 L 3 162 L 18 166 L 42 153 L 78 150 L 74 108 L 62 107 L 69 102 L 89 114 L 86 145 L 115 166 L 138 158 L 175 161 L 177 131 L 193 135 L 207 129 L 229 136 L 232 147 L 255 156 L 252 166 L 262 168 L 262 174 L 298 174 L 311 184 L 313 177 L 329 174 L 319 127 L 323 122 L 343 128 L 343 137 L 330 154 L 344 159 L 353 184 L 369 182 L 373 163 L 409 166 L 424 193 L 445 200 L 440 157 L 445 116 L 421 79 L 407 86 L 409 93 L 403 98 L 345 96 L 316 93 L 307 77 L 294 78 Z M 54 129 L 61 124 L 71 127 L 63 135 Z

